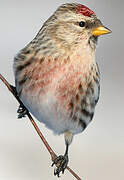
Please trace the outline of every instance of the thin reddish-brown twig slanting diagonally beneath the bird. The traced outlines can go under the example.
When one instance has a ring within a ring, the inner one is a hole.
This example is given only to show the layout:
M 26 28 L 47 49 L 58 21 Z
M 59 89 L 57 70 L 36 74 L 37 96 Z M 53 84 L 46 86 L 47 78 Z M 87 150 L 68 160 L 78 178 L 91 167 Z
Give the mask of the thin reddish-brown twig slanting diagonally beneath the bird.
M 23 103 L 21 102 L 21 100 L 18 97 L 18 94 L 15 93 L 14 91 L 14 87 L 12 85 L 10 85 L 7 80 L 0 74 L 0 79 L 2 80 L 2 82 L 6 85 L 6 87 L 8 88 L 8 90 L 13 94 L 13 96 L 16 98 L 16 100 L 19 102 L 20 105 L 24 106 Z M 25 107 L 25 106 L 24 106 Z M 25 109 L 27 110 L 27 108 L 25 107 Z M 50 147 L 50 145 L 48 144 L 48 142 L 46 141 L 45 137 L 43 136 L 43 134 L 41 133 L 40 129 L 38 128 L 37 124 L 35 123 L 34 119 L 32 118 L 31 114 L 29 113 L 29 111 L 27 110 L 27 116 L 29 118 L 29 120 L 31 121 L 32 125 L 34 126 L 35 130 L 37 131 L 38 135 L 40 136 L 42 142 L 44 143 L 44 145 L 46 146 L 47 150 L 49 151 L 50 155 L 51 155 L 51 159 L 52 161 L 56 158 L 56 154 L 54 153 L 54 151 L 52 150 L 52 148 Z M 67 170 L 77 179 L 77 180 L 81 180 L 81 178 L 71 169 L 67 166 Z

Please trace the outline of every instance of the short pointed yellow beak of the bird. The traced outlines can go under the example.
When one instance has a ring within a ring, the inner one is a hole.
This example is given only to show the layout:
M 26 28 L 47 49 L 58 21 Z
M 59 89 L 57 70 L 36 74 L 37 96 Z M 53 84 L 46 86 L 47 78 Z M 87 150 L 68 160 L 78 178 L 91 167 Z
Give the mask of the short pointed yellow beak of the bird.
M 103 34 L 111 33 L 111 30 L 109 30 L 108 28 L 106 28 L 104 26 L 99 26 L 99 27 L 93 28 L 91 33 L 94 36 L 100 36 Z

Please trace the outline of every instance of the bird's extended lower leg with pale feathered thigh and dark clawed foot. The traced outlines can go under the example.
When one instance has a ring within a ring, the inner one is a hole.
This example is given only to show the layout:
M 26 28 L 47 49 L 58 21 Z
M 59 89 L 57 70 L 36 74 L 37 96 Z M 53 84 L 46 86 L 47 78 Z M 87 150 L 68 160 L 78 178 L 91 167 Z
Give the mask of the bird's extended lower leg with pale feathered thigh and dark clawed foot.
M 52 166 L 56 165 L 56 169 L 54 170 L 55 176 L 57 175 L 59 177 L 60 172 L 64 173 L 64 171 L 68 165 L 68 161 L 69 161 L 69 159 L 68 159 L 68 148 L 72 142 L 72 138 L 73 138 L 72 133 L 70 133 L 70 132 L 65 133 L 65 144 L 66 144 L 65 154 L 63 156 L 60 155 L 57 158 L 55 158 L 55 160 L 53 161 L 53 164 L 52 164 Z

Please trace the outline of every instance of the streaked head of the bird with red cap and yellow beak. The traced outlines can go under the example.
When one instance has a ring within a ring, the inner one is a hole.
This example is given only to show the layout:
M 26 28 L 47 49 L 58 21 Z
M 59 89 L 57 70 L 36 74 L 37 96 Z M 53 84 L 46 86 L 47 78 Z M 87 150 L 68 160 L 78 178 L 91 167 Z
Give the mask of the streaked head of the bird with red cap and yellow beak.
M 44 23 L 37 37 L 41 44 L 42 40 L 46 41 L 51 49 L 70 50 L 80 44 L 95 49 L 98 36 L 110 32 L 88 7 L 67 3 L 61 5 Z

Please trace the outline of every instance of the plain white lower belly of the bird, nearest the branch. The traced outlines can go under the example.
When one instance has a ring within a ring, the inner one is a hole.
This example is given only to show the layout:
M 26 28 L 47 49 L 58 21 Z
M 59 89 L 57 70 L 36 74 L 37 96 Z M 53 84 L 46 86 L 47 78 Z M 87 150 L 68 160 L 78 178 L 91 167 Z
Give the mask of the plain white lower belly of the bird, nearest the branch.
M 82 132 L 78 121 L 74 121 L 57 103 L 56 98 L 48 93 L 45 96 L 21 94 L 21 100 L 35 118 L 43 122 L 55 134 L 71 131 L 73 134 Z

